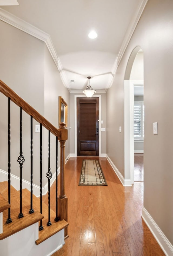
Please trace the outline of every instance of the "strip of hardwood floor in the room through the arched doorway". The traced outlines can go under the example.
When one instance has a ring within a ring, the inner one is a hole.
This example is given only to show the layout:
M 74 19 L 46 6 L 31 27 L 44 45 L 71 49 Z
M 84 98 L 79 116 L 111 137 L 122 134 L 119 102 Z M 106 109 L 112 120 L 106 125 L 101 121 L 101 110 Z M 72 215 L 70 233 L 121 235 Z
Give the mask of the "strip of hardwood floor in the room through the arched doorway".
M 134 153 L 134 181 L 144 181 L 143 153 Z

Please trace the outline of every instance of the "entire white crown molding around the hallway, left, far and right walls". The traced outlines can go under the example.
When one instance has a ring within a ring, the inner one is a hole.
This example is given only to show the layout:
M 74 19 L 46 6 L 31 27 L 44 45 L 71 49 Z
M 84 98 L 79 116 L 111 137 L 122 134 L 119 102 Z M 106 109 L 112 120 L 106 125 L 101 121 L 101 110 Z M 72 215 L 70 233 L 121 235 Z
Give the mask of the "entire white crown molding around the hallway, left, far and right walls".
M 139 7 L 139 10 L 137 12 L 137 14 L 134 16 L 134 19 L 132 20 L 131 22 L 131 26 L 130 29 L 128 30 L 128 32 L 126 33 L 125 37 L 124 37 L 124 40 L 122 42 L 122 46 L 121 46 L 121 49 L 119 50 L 119 53 L 117 55 L 117 58 L 114 62 L 114 65 L 112 67 L 112 77 L 109 79 L 108 83 L 107 83 L 107 86 L 105 88 L 105 90 L 99 90 L 101 93 L 105 93 L 107 91 L 108 88 L 110 88 L 112 86 L 112 83 L 114 81 L 114 75 L 117 71 L 117 67 L 122 59 L 122 56 L 125 52 L 125 49 L 127 48 L 128 46 L 128 43 L 134 33 L 134 30 L 138 24 L 138 21 L 142 15 L 142 12 L 144 11 L 144 8 L 147 4 L 148 0 L 143 0 L 140 7 Z M 56 67 L 58 68 L 59 72 L 60 72 L 60 75 L 61 75 L 61 79 L 62 79 L 62 82 L 64 84 L 65 87 L 67 87 L 67 89 L 69 90 L 70 93 L 72 93 L 72 91 L 75 91 L 75 93 L 77 93 L 78 90 L 71 90 L 70 89 L 70 85 L 69 85 L 69 82 L 67 80 L 67 77 L 65 75 L 65 71 L 63 70 L 63 67 L 62 67 L 62 64 L 58 58 L 58 55 L 55 51 L 55 48 L 53 46 L 53 43 L 52 43 L 52 40 L 51 40 L 51 37 L 49 36 L 49 34 L 45 33 L 44 31 L 32 26 L 31 24 L 27 23 L 26 21 L 16 17 L 15 15 L 5 11 L 4 9 L 0 8 L 0 20 L 10 24 L 11 26 L 13 27 L 16 27 L 17 29 L 20 29 L 22 31 L 24 31 L 25 33 L 31 35 L 31 36 L 34 36 L 36 37 L 37 39 L 39 40 L 42 40 L 43 42 L 46 43 L 46 46 L 55 62 L 55 65 Z M 79 90 L 79 93 L 81 93 L 82 90 Z M 98 90 L 97 90 L 98 92 Z

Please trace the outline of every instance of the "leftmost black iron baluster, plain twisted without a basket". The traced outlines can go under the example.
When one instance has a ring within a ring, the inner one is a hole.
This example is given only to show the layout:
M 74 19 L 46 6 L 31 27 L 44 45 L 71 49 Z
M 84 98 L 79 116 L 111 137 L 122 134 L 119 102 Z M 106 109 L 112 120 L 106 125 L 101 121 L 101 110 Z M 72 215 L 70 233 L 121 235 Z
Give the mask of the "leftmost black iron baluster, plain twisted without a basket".
M 11 112 L 10 112 L 10 98 L 8 98 L 8 203 L 11 204 L 11 127 L 10 121 L 11 119 Z M 6 223 L 12 222 L 11 219 L 11 211 L 8 208 L 8 219 Z

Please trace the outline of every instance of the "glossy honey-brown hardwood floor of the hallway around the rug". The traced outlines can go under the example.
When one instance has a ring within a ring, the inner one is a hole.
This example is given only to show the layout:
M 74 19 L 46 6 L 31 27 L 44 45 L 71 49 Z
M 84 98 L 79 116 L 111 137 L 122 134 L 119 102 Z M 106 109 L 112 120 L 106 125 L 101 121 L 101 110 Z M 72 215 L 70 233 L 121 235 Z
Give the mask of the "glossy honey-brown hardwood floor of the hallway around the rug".
M 71 157 L 66 163 L 69 237 L 52 256 L 164 255 L 141 218 L 143 182 L 123 187 L 102 157 L 99 162 L 108 186 L 78 186 L 83 159 Z M 55 190 L 54 185 L 51 190 Z M 55 208 L 52 196 L 51 208 Z

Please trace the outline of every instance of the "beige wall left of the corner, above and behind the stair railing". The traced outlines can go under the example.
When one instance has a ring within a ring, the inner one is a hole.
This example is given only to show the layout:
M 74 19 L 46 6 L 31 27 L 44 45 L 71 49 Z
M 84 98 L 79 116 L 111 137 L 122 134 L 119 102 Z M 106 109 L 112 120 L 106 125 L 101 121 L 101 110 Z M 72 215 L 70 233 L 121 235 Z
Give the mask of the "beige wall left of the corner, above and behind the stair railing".
M 26 102 L 44 115 L 44 43 L 28 34 L 0 21 L 0 79 Z M 7 136 L 7 98 L 1 94 L 1 169 L 8 171 L 8 136 Z M 23 178 L 30 179 L 30 119 L 23 113 Z M 11 172 L 19 176 L 19 108 L 11 103 Z M 38 144 L 33 134 L 34 147 Z M 3 147 L 2 147 L 3 145 Z M 33 148 L 34 150 L 34 148 Z M 37 151 L 37 149 L 36 149 Z M 34 161 L 34 168 L 39 170 L 39 159 Z M 34 176 L 38 184 L 38 177 Z

